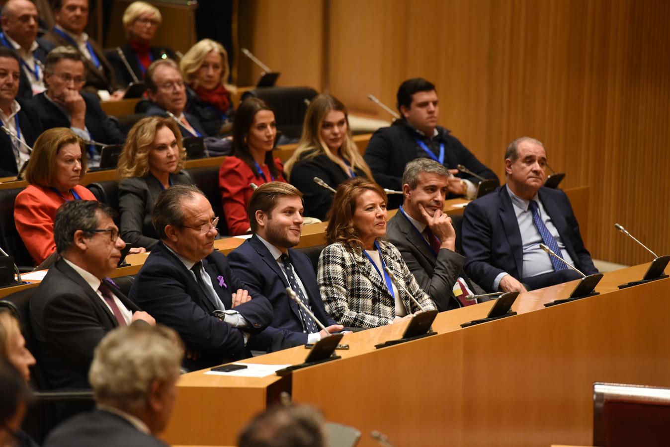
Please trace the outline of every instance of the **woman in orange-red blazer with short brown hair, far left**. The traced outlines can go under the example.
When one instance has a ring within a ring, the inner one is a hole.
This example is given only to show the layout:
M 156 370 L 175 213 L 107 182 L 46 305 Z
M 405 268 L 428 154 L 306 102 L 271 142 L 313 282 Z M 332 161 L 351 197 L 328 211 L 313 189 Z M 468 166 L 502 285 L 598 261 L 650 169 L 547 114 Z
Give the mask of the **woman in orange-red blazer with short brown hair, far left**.
M 50 128 L 35 141 L 24 176 L 29 185 L 16 197 L 14 220 L 36 264 L 56 251 L 56 209 L 68 200 L 95 200 L 78 184 L 85 173 L 86 151 L 72 130 Z

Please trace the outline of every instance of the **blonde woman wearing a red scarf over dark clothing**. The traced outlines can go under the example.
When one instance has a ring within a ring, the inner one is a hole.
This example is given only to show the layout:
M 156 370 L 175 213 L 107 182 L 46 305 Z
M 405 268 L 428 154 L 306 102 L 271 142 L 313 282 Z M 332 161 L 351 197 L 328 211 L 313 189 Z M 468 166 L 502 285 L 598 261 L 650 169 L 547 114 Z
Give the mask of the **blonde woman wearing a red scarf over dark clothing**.
M 207 135 L 222 135 L 234 113 L 228 84 L 230 69 L 225 48 L 212 39 L 202 39 L 184 54 L 180 64 L 188 88 L 188 112 L 196 115 Z

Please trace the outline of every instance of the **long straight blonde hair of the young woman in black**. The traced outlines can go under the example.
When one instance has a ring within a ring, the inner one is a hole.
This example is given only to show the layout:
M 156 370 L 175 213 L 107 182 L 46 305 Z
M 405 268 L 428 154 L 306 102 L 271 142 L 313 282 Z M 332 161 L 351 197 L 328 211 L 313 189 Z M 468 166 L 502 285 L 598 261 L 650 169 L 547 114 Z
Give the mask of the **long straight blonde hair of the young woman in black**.
M 373 179 L 370 167 L 365 163 L 363 157 L 361 157 L 358 147 L 356 147 L 356 143 L 354 143 L 354 139 L 352 138 L 349 126 L 349 114 L 346 111 L 346 107 L 337 98 L 329 94 L 316 96 L 307 108 L 305 121 L 302 125 L 302 137 L 297 145 L 297 149 L 295 149 L 291 158 L 284 165 L 284 172 L 288 177 L 291 176 L 291 169 L 293 169 L 297 161 L 309 160 L 318 155 L 326 155 L 333 163 L 341 167 L 342 171 L 349 171 L 349 168 L 342 162 L 342 159 L 328 149 L 328 145 L 326 145 L 326 142 L 321 137 L 321 126 L 324 118 L 326 118 L 328 112 L 333 110 L 344 113 L 344 119 L 346 120 L 346 134 L 344 135 L 342 147 L 340 147 L 340 155 L 351 163 L 352 169 L 360 169 L 368 179 Z

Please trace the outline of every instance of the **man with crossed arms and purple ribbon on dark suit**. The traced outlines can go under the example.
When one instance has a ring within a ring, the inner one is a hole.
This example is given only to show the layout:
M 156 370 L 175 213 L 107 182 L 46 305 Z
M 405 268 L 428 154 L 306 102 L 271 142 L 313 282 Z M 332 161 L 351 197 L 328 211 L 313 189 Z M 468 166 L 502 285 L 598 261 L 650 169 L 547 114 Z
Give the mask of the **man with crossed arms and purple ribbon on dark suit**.
M 179 333 L 187 369 L 249 357 L 249 335 L 269 325 L 272 306 L 214 252 L 218 217 L 208 199 L 196 187 L 174 185 L 158 196 L 152 219 L 161 242 L 137 274 L 131 299 Z

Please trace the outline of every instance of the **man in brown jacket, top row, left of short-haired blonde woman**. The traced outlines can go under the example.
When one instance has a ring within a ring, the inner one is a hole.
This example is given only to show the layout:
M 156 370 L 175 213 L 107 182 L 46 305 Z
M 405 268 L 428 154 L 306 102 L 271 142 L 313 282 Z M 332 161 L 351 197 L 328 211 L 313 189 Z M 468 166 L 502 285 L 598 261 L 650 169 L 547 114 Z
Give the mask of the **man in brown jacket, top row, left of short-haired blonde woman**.
M 117 91 L 114 69 L 103 50 L 84 32 L 88 24 L 88 0 L 56 0 L 54 29 L 44 35 L 54 46 L 72 46 L 86 63 L 86 90 L 98 94 L 100 100 L 119 100 L 123 91 Z

